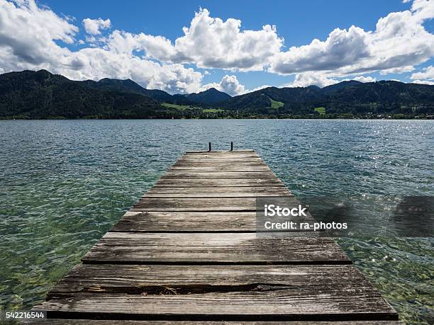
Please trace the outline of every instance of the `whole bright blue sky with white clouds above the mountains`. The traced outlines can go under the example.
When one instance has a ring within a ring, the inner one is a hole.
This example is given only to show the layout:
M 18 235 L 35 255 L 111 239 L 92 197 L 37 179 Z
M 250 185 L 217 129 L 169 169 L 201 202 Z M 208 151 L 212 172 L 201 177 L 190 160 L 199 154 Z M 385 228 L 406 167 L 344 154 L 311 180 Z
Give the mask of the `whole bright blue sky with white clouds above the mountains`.
M 431 84 L 432 2 L 0 0 L 0 69 L 130 78 L 170 93 L 343 79 Z

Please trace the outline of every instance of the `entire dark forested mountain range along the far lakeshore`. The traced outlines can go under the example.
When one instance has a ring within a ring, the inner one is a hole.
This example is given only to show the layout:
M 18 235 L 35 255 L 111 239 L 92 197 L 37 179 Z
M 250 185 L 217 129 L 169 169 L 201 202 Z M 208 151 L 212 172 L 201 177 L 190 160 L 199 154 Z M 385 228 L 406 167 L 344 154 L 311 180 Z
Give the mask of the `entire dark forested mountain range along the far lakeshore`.
M 0 118 L 411 118 L 433 113 L 434 86 L 399 81 L 268 87 L 231 97 L 213 88 L 170 95 L 130 79 L 73 81 L 46 70 L 0 75 Z

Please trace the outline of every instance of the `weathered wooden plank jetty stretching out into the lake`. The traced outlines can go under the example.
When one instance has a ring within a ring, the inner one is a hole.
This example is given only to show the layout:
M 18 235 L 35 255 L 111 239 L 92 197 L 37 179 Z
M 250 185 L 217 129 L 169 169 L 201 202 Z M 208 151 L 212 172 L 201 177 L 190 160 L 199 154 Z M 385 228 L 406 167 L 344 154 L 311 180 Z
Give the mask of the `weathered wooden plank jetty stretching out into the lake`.
M 48 324 L 398 324 L 333 239 L 258 238 L 269 196 L 292 195 L 254 151 L 187 152 L 35 310 Z

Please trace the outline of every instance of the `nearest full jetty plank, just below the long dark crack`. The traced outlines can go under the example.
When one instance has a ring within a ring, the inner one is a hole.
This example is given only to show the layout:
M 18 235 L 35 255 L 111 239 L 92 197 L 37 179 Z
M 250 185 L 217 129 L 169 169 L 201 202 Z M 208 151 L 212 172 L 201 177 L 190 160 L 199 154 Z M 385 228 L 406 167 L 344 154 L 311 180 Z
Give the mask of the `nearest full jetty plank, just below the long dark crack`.
M 397 320 L 378 292 L 360 290 L 269 290 L 191 295 L 77 295 L 38 307 L 49 316 L 150 320 Z

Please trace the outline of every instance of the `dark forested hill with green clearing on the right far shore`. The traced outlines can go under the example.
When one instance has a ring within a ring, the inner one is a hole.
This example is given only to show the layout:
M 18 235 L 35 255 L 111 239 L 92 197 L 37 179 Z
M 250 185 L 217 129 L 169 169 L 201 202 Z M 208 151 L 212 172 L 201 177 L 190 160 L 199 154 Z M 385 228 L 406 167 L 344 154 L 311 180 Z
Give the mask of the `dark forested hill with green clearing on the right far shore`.
M 273 101 L 284 105 L 270 110 Z M 228 110 L 289 115 L 315 115 L 318 107 L 324 107 L 327 114 L 432 114 L 434 86 L 399 81 L 342 81 L 322 89 L 269 87 L 230 98 L 224 106 Z

